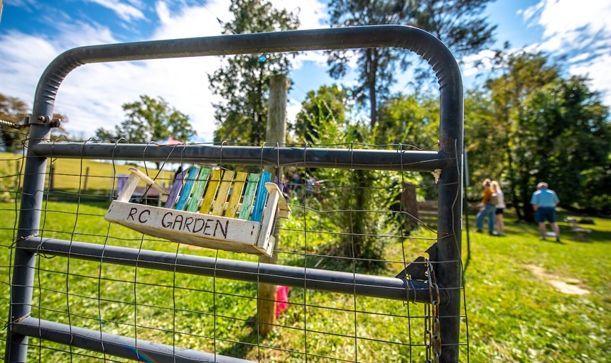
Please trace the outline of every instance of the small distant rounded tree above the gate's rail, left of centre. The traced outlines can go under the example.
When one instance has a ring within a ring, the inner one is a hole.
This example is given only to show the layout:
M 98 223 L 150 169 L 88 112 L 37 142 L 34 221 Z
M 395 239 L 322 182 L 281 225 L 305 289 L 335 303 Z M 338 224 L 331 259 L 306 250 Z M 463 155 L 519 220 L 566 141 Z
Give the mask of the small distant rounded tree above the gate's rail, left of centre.
M 116 142 L 126 138 L 130 143 L 149 143 L 154 140 L 175 138 L 186 142 L 196 135 L 189 116 L 170 106 L 162 97 L 153 99 L 140 96 L 140 101 L 124 104 L 126 120 L 112 130 L 98 128 L 96 138 Z

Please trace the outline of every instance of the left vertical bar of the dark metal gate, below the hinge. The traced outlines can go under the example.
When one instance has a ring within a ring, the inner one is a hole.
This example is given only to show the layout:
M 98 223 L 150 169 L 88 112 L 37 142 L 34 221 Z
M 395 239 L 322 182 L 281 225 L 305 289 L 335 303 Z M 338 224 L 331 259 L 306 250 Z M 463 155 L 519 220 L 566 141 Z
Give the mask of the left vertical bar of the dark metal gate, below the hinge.
M 53 103 L 38 102 L 34 100 L 33 113 L 30 122 L 40 116 L 53 115 Z M 50 117 L 48 117 L 50 121 Z M 21 190 L 21 211 L 17 230 L 16 245 L 20 240 L 38 235 L 40 228 L 40 213 L 43 209 L 43 191 L 45 189 L 45 174 L 47 158 L 38 157 L 30 152 L 34 145 L 49 139 L 50 126 L 32 124 L 30 140 L 28 141 L 28 156 L 23 175 L 23 189 Z M 32 296 L 34 289 L 34 274 L 36 269 L 36 253 L 15 249 L 13 263 L 13 276 L 11 282 L 11 302 L 9 306 L 9 328 L 6 333 L 6 362 L 26 362 L 28 352 L 28 337 L 13 333 L 11 323 L 26 318 L 32 311 Z

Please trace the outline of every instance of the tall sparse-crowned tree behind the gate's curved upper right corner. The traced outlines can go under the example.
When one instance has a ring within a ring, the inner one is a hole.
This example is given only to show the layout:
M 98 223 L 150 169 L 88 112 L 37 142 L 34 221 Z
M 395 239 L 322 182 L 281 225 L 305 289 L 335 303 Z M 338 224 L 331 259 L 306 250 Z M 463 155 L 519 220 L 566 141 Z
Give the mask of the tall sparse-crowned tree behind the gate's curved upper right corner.
M 331 26 L 397 24 L 416 26 L 435 35 L 456 57 L 477 52 L 493 40 L 496 26 L 489 26 L 482 11 L 490 0 L 332 0 Z M 396 81 L 397 65 L 409 66 L 408 50 L 366 48 L 329 52 L 329 74 L 345 76 L 351 55 L 358 57 L 360 85 L 355 88 L 359 101 L 369 99 L 370 127 L 377 123 L 379 101 L 390 93 Z

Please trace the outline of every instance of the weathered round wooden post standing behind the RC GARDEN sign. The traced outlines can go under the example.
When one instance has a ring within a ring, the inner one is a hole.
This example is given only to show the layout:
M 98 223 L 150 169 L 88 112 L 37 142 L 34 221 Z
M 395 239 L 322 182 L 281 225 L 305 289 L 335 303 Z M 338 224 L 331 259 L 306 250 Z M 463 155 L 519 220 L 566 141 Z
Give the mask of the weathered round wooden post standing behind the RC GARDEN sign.
M 267 108 L 267 130 L 266 145 L 273 146 L 278 143 L 283 146 L 286 143 L 286 99 L 288 92 L 288 79 L 284 74 L 276 74 L 271 77 L 269 82 L 269 103 Z M 274 170 L 274 167 L 266 166 L 265 172 L 271 172 L 278 179 L 281 179 L 282 168 Z M 276 248 L 280 245 L 279 228 L 274 231 L 276 238 Z M 261 263 L 275 264 L 278 261 L 278 254 L 274 252 L 271 257 L 260 257 Z M 276 285 L 259 284 L 259 300 L 257 308 L 259 310 L 259 333 L 266 335 L 270 333 L 276 323 Z

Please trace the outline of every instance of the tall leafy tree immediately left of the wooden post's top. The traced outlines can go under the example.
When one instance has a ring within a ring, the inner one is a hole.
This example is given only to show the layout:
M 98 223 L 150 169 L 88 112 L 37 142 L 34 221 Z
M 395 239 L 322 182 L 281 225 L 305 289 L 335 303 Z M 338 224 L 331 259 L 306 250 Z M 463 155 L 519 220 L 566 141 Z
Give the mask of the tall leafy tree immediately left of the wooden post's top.
M 234 21 L 225 24 L 224 34 L 292 30 L 297 16 L 276 10 L 269 1 L 232 0 L 229 11 Z M 287 73 L 286 53 L 264 53 L 222 57 L 227 65 L 208 75 L 210 90 L 225 100 L 213 104 L 218 129 L 215 141 L 259 144 L 265 140 L 269 77 Z

